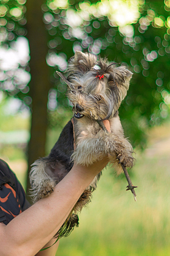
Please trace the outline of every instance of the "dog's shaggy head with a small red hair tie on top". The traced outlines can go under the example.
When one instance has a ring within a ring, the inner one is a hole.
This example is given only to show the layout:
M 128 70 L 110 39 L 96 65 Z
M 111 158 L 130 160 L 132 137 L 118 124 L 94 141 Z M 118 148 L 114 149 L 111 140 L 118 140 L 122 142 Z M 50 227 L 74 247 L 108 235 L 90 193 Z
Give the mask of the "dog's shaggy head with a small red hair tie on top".
M 57 72 L 69 86 L 67 96 L 73 104 L 75 118 L 109 119 L 127 94 L 131 71 L 114 67 L 107 59 L 75 52 L 69 60 L 66 77 Z

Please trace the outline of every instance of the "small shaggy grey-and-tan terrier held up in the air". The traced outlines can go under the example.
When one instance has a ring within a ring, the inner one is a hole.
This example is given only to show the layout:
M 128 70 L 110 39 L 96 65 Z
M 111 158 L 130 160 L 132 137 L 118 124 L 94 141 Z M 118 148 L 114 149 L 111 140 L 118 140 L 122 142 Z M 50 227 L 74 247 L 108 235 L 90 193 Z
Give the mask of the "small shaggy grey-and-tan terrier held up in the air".
M 77 51 L 69 60 L 67 78 L 57 72 L 68 85 L 67 97 L 73 104 L 74 116 L 64 127 L 50 154 L 33 163 L 30 183 L 34 202 L 52 193 L 55 185 L 70 171 L 73 162 L 88 166 L 109 155 L 117 174 L 123 171 L 122 165 L 128 168 L 134 165 L 133 149 L 124 138 L 118 116 L 132 73 L 124 66 L 114 67 L 114 64 Z M 109 120 L 110 132 L 101 129 L 99 122 L 104 120 Z M 86 188 L 55 236 L 67 236 L 78 226 L 77 213 L 90 202 L 100 176 L 101 172 Z

